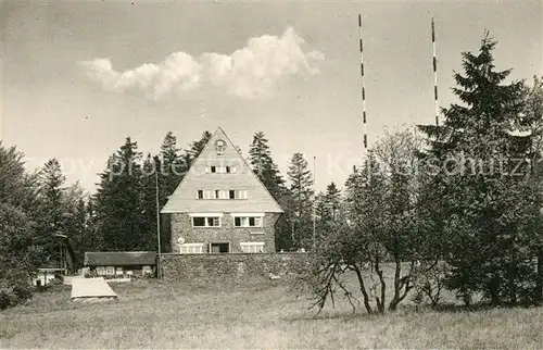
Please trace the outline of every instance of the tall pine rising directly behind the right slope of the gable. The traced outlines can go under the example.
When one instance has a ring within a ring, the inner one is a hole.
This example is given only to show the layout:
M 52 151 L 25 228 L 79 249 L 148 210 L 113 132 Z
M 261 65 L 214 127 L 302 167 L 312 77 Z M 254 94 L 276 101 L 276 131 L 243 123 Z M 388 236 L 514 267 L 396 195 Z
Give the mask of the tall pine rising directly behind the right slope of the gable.
M 268 140 L 262 132 L 254 134 L 249 149 L 249 161 L 254 173 L 276 200 L 285 195 L 285 179 L 272 159 Z

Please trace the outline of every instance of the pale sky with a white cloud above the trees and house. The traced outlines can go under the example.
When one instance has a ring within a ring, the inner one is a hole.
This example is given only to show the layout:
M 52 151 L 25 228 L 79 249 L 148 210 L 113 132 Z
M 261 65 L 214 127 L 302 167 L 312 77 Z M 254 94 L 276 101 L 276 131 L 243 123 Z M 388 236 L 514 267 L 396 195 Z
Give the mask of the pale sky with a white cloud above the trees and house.
M 0 0 L 0 139 L 93 191 L 127 136 L 155 153 L 223 127 L 247 157 L 264 132 L 283 175 L 302 152 L 318 189 L 343 186 L 364 151 L 358 13 L 369 146 L 434 121 L 432 17 L 440 105 L 485 29 L 510 79 L 543 74 L 540 1 Z

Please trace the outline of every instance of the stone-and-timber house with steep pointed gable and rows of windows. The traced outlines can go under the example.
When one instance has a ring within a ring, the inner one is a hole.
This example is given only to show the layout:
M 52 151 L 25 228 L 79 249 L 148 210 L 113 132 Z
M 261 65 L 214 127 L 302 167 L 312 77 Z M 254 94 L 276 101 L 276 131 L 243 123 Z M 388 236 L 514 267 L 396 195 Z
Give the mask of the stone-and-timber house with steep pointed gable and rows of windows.
M 269 253 L 282 210 L 218 128 L 161 213 L 171 223 L 173 252 Z

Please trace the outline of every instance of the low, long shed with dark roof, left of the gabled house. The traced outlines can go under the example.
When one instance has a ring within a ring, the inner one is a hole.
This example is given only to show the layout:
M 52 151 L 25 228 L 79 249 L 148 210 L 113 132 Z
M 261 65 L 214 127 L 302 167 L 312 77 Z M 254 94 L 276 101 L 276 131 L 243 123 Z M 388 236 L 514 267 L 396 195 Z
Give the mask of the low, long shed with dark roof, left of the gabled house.
M 156 267 L 154 251 L 86 252 L 85 266 L 98 276 L 152 275 Z

